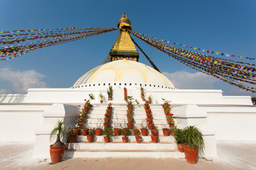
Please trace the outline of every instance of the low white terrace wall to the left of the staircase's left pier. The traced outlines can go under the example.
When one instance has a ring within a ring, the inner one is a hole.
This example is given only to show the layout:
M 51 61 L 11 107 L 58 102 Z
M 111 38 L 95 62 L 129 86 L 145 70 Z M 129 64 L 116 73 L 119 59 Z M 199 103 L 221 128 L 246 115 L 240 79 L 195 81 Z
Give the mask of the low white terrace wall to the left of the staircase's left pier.
M 0 140 L 34 141 L 48 105 L 0 105 Z

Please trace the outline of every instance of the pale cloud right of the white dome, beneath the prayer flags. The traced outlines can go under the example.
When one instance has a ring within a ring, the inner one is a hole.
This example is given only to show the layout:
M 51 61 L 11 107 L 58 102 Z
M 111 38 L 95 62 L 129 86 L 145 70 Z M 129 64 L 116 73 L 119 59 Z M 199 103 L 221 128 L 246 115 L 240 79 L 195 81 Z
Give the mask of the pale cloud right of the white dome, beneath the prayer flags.
M 201 72 L 189 73 L 186 71 L 164 72 L 177 89 L 214 89 L 213 84 L 218 81 Z

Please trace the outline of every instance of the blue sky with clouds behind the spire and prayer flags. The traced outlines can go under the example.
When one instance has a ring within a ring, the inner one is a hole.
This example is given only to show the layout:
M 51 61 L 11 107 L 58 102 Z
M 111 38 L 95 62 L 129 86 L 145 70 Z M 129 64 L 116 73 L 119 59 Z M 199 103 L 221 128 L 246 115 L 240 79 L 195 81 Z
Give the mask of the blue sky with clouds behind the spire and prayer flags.
M 256 58 L 255 0 L 1 0 L 0 9 L 0 30 L 116 28 L 118 19 L 125 11 L 132 21 L 133 30 L 139 33 Z M 0 93 L 26 93 L 26 89 L 32 87 L 73 86 L 85 72 L 102 63 L 118 34 L 116 30 L 1 61 Z M 152 47 L 137 38 L 134 40 L 150 55 Z M 154 50 L 151 59 L 178 89 L 222 89 L 224 95 L 255 96 L 198 73 L 157 50 Z M 139 62 L 146 63 L 141 53 Z

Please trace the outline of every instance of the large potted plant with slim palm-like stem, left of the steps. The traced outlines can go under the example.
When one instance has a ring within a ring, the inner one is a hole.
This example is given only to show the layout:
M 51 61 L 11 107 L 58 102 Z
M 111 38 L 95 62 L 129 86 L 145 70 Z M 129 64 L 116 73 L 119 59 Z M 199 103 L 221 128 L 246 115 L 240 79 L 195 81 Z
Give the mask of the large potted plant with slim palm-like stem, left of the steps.
M 53 164 L 61 162 L 65 152 L 65 143 L 61 142 L 60 138 L 65 135 L 65 123 L 63 120 L 58 120 L 53 130 L 50 132 L 50 140 L 53 136 L 56 137 L 56 141 L 53 145 L 50 145 L 50 159 Z

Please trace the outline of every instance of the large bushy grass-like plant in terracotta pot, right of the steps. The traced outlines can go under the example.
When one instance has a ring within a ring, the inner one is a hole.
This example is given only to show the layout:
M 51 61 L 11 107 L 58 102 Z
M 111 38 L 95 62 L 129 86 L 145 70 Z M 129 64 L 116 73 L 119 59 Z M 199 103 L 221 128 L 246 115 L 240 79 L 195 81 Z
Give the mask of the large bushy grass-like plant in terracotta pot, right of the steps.
M 184 153 L 186 162 L 196 164 L 198 152 L 203 152 L 203 134 L 195 126 L 188 126 L 183 130 Z

